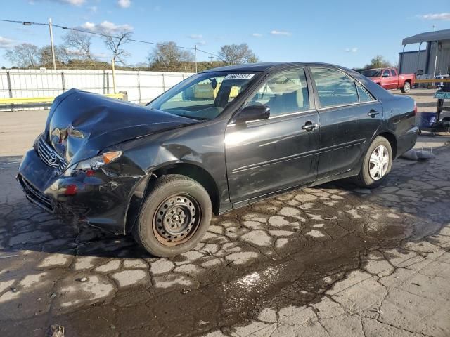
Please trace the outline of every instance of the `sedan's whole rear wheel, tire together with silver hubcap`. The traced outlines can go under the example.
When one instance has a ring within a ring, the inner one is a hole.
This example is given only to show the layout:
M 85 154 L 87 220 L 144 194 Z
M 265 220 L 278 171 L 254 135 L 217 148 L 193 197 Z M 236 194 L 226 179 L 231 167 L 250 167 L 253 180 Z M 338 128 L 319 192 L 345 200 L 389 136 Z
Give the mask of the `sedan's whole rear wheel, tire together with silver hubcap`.
M 378 187 L 383 183 L 391 168 L 392 147 L 386 138 L 378 136 L 368 147 L 361 171 L 356 177 L 356 183 L 361 187 Z

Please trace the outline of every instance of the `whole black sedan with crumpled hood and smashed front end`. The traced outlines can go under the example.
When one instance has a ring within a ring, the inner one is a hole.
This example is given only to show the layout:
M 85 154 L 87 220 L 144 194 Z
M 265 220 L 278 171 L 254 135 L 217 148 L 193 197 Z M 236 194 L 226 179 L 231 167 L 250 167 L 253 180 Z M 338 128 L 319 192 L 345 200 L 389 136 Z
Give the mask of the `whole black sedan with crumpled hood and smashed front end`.
M 209 70 L 146 107 L 72 89 L 17 178 L 47 211 L 174 256 L 212 213 L 341 178 L 377 187 L 416 142 L 415 115 L 411 98 L 319 63 Z

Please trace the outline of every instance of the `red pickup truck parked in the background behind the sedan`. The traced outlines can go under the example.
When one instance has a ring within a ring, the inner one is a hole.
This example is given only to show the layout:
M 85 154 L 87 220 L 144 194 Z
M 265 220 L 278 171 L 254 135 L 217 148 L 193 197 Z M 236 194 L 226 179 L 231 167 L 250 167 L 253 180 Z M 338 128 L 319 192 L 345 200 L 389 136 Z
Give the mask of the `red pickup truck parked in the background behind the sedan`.
M 385 89 L 400 89 L 402 93 L 408 93 L 416 81 L 416 74 L 398 74 L 395 68 L 368 69 L 361 74 Z

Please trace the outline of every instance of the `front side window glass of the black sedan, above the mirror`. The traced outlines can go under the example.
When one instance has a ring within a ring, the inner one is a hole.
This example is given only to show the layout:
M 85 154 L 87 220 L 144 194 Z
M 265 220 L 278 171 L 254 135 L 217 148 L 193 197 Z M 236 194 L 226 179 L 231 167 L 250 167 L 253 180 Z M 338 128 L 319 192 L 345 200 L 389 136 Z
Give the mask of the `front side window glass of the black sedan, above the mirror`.
M 304 70 L 290 70 L 269 78 L 248 105 L 264 104 L 271 116 L 309 110 L 309 94 Z

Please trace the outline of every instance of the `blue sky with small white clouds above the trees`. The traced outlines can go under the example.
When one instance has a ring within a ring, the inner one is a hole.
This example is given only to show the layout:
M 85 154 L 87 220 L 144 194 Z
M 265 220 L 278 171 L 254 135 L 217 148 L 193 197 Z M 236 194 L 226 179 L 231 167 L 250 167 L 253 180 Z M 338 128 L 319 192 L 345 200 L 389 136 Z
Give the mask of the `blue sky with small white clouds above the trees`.
M 121 29 L 150 42 L 217 54 L 224 44 L 248 43 L 259 60 L 330 62 L 363 67 L 375 55 L 398 62 L 401 40 L 433 29 L 450 29 L 450 0 L 303 1 L 303 0 L 0 0 L 0 19 L 47 22 L 115 34 Z M 55 44 L 63 29 L 53 28 Z M 4 54 L 16 44 L 49 44 L 46 26 L 0 22 L 0 67 L 11 67 Z M 94 37 L 99 60 L 110 60 L 103 41 Z M 145 62 L 150 45 L 131 43 L 129 64 Z M 406 47 L 416 50 L 418 45 Z M 423 46 L 424 48 L 424 46 Z M 198 53 L 198 60 L 209 60 Z

